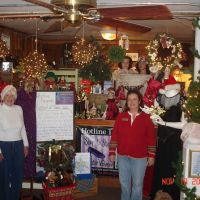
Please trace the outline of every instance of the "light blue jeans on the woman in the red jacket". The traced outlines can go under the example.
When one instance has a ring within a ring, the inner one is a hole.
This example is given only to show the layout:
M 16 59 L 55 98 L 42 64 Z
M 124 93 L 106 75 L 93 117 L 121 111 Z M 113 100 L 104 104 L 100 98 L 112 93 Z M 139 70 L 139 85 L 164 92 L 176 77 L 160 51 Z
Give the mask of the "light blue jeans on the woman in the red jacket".
M 147 158 L 118 155 L 121 200 L 142 200 Z

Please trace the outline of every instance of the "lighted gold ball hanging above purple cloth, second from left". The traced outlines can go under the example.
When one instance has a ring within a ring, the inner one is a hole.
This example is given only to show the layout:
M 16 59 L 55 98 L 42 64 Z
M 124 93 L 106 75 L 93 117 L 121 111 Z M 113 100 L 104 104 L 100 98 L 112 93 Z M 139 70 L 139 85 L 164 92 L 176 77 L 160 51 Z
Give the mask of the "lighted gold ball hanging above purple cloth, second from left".
M 21 60 L 18 68 L 25 73 L 26 79 L 37 79 L 42 78 L 46 74 L 48 65 L 44 54 L 34 51 Z

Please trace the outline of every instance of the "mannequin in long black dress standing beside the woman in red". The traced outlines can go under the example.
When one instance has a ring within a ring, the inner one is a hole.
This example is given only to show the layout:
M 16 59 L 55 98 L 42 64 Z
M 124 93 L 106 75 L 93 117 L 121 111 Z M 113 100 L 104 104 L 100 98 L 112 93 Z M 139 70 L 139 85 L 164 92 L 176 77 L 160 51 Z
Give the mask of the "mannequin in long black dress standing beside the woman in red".
M 178 186 L 174 183 L 170 185 L 162 184 L 163 178 L 173 178 L 176 171 L 172 167 L 172 163 L 176 162 L 179 151 L 182 150 L 182 141 L 180 139 L 181 130 L 169 126 L 167 124 L 176 123 L 181 127 L 181 107 L 180 107 L 180 85 L 171 84 L 166 85 L 164 89 L 159 90 L 157 101 L 160 106 L 163 106 L 166 110 L 162 119 L 159 118 L 160 124 L 158 126 L 157 137 L 157 153 L 154 167 L 154 178 L 152 188 L 152 199 L 155 196 L 156 191 L 162 190 L 169 193 L 172 199 L 180 199 L 180 191 Z

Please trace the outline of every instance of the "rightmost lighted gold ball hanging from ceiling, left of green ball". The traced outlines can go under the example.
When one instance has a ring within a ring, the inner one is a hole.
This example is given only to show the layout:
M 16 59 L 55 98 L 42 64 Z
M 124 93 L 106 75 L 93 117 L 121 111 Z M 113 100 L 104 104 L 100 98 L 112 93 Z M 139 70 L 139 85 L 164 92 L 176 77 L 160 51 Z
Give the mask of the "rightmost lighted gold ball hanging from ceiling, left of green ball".
M 72 46 L 73 60 L 81 66 L 89 63 L 97 54 L 96 47 L 83 38 L 76 41 Z

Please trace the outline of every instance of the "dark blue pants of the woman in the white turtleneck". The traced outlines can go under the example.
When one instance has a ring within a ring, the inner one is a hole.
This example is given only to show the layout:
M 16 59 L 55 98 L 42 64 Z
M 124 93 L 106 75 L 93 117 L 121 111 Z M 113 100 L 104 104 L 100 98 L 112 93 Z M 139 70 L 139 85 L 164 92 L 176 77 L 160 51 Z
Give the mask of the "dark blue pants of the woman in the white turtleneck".
M 0 161 L 0 200 L 18 200 L 22 188 L 24 145 L 22 141 L 2 142 Z

